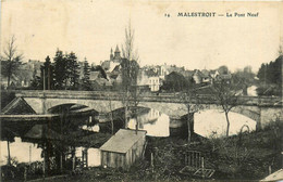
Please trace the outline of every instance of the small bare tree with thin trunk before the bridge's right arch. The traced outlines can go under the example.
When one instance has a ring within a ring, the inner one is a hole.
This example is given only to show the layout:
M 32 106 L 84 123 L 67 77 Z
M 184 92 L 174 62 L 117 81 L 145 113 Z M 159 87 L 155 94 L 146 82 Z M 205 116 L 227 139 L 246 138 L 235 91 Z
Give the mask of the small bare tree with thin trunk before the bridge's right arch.
M 233 107 L 238 104 L 238 96 L 237 96 L 237 83 L 230 82 L 224 79 L 220 80 L 212 84 L 213 90 L 213 98 L 217 101 L 217 104 L 221 106 L 225 114 L 227 127 L 226 127 L 226 136 L 229 136 L 230 130 L 230 120 L 229 120 L 229 113 Z

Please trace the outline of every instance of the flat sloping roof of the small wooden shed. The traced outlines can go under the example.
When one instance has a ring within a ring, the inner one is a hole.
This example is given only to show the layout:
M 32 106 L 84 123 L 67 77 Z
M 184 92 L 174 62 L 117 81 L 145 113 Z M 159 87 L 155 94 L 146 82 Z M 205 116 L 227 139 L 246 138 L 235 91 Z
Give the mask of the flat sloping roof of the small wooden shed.
M 142 136 L 146 135 L 146 131 L 136 131 L 120 129 L 109 141 L 101 147 L 101 151 L 126 153 Z

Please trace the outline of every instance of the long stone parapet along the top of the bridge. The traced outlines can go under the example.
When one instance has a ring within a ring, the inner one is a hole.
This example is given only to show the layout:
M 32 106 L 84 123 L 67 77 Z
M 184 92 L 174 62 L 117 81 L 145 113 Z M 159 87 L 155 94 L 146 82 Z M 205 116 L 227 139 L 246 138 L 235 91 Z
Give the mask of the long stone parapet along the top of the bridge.
M 39 98 L 39 99 L 79 99 L 79 100 L 112 100 L 121 101 L 123 99 L 123 92 L 110 92 L 110 91 L 17 91 L 17 98 Z M 199 95 L 200 101 L 192 100 L 192 103 L 200 102 L 201 104 L 217 104 L 218 101 L 212 95 L 204 94 Z M 159 95 L 153 93 L 143 93 L 138 96 L 143 102 L 165 102 L 165 103 L 184 103 L 184 100 L 179 93 L 160 93 Z M 282 106 L 282 99 L 276 96 L 239 96 L 237 100 L 239 105 L 258 105 L 258 106 Z

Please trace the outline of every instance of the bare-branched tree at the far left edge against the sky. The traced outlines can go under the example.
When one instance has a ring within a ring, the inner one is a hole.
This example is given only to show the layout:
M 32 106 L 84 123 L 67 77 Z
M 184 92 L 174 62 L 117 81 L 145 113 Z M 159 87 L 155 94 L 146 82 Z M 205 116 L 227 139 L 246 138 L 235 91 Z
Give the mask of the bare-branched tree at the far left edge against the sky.
M 8 88 L 10 87 L 12 75 L 17 72 L 23 58 L 23 54 L 17 51 L 15 41 L 15 37 L 12 36 L 12 38 L 7 42 L 3 55 L 1 56 L 1 73 L 3 76 L 8 77 Z

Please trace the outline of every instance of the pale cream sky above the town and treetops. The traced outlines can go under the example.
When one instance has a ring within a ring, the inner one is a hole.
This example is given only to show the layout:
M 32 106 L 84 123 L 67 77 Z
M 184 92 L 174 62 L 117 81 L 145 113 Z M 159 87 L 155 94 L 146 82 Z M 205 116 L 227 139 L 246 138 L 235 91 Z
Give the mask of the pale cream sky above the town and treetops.
M 216 16 L 177 16 L 180 12 L 216 12 Z M 248 17 L 248 12 L 258 16 Z M 276 58 L 283 40 L 282 1 L 2 0 L 1 53 L 14 35 L 25 60 L 45 61 L 60 49 L 99 64 L 109 60 L 111 48 L 124 42 L 130 22 L 142 66 L 227 65 L 235 70 L 250 65 L 257 72 L 262 63 Z

